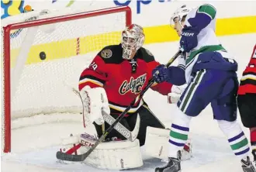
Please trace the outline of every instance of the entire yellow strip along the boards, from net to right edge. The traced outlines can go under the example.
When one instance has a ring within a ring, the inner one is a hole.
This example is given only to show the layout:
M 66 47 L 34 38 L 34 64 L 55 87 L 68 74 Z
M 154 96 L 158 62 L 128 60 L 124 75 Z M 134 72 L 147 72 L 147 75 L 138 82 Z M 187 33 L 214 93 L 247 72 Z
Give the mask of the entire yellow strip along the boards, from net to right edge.
M 177 41 L 179 38 L 174 29 L 169 25 L 145 27 L 145 43 L 164 43 Z M 256 16 L 244 16 L 228 19 L 217 19 L 216 35 L 227 36 L 241 33 L 256 33 Z M 103 46 L 120 43 L 121 32 L 103 33 L 94 36 L 80 37 L 79 54 L 101 50 Z M 26 64 L 42 62 L 40 52 L 45 52 L 45 61 L 72 57 L 77 54 L 77 39 L 61 40 L 52 43 L 43 43 L 32 46 Z M 12 65 L 19 50 L 11 51 Z

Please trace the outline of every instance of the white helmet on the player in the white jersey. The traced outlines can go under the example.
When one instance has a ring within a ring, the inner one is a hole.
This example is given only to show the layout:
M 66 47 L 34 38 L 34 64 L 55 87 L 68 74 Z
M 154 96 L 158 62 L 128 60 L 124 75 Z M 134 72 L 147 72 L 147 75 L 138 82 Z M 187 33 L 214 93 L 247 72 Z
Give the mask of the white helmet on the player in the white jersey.
M 178 8 L 173 15 L 171 15 L 171 27 L 174 28 L 175 26 L 175 19 L 178 18 L 179 24 L 182 26 L 182 20 L 185 18 L 186 15 L 189 14 L 189 12 L 192 9 L 187 7 L 187 5 L 182 5 L 182 7 Z

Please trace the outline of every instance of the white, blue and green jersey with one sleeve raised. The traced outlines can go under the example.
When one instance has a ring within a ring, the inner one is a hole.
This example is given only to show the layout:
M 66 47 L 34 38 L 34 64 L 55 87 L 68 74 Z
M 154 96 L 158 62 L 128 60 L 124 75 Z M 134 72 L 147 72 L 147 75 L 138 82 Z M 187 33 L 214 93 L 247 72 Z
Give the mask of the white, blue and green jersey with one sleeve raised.
M 200 69 L 214 68 L 220 70 L 237 70 L 237 63 L 230 53 L 220 44 L 216 36 L 216 9 L 213 5 L 204 4 L 192 9 L 186 16 L 185 26 L 192 26 L 200 29 L 197 36 L 198 45 L 189 53 L 186 53 L 185 79 L 190 81 L 193 71 Z M 212 52 L 212 53 L 211 53 Z M 207 54 L 204 54 L 207 53 Z M 211 58 L 215 58 L 212 60 Z M 220 63 L 215 63 L 216 61 Z M 234 65 L 227 67 L 228 64 Z

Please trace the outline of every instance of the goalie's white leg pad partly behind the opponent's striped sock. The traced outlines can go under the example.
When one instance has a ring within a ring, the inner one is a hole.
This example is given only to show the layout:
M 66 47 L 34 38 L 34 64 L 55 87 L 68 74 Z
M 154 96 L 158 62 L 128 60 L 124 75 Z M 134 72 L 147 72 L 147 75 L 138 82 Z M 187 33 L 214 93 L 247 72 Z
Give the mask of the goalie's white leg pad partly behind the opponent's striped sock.
M 168 158 L 168 146 L 170 129 L 158 129 L 147 126 L 147 134 L 145 141 L 145 148 L 147 155 L 156 157 L 159 159 Z M 182 150 L 182 160 L 188 160 L 192 157 L 192 145 L 191 140 L 185 144 L 185 149 Z

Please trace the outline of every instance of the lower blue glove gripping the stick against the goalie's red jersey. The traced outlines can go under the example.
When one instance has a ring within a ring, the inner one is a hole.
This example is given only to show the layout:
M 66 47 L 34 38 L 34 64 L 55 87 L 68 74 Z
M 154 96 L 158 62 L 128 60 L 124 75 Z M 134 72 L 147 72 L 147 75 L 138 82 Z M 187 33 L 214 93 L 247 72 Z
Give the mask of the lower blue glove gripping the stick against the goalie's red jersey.
M 165 67 L 164 64 L 161 64 L 154 68 L 152 75 L 154 77 L 154 81 L 157 83 L 168 81 L 168 67 Z

